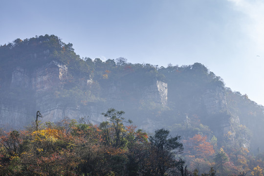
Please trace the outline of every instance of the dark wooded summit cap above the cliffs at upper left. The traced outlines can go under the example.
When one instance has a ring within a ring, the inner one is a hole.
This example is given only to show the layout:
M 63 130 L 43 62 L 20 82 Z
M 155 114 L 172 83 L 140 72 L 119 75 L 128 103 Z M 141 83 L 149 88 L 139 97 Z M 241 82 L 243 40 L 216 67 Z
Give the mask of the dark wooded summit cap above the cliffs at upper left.
M 88 65 L 75 54 L 72 44 L 63 43 L 57 36 L 36 36 L 16 39 L 13 43 L 0 46 L 1 69 L 12 71 L 16 66 L 39 67 L 52 60 L 68 66 L 71 73 L 90 73 Z M 73 71 L 74 70 L 74 71 Z

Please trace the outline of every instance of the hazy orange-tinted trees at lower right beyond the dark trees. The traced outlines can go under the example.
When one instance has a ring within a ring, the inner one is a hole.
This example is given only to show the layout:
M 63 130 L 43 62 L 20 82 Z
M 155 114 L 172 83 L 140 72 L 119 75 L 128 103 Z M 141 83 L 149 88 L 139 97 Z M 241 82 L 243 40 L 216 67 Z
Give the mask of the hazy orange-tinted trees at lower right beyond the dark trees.
M 183 140 L 182 157 L 195 176 L 263 176 L 263 154 L 254 156 L 244 147 L 218 147 L 217 143 L 215 136 L 209 140 L 202 134 Z

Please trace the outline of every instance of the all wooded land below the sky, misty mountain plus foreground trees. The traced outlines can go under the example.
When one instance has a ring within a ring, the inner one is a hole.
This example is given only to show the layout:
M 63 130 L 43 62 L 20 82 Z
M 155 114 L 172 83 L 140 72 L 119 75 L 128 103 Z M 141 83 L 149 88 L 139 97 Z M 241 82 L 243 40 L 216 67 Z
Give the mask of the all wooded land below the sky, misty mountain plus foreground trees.
M 263 176 L 264 107 L 200 63 L 80 58 L 54 35 L 0 59 L 3 176 Z

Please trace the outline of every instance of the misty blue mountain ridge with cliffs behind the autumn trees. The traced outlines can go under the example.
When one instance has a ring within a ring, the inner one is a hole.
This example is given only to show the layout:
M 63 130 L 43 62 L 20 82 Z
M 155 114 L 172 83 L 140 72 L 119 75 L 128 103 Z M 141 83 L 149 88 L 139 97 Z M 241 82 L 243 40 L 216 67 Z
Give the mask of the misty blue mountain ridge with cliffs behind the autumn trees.
M 109 108 L 147 132 L 166 128 L 188 139 L 217 138 L 218 146 L 264 150 L 264 108 L 226 88 L 200 63 L 159 67 L 124 58 L 80 58 L 54 35 L 0 46 L 0 127 L 21 129 L 65 117 L 99 124 Z

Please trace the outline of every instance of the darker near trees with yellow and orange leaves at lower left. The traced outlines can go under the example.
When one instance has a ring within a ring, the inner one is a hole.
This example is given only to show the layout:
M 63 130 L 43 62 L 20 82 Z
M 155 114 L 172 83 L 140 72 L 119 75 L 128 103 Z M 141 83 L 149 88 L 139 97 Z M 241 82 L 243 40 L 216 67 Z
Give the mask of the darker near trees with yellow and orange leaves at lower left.
M 184 161 L 179 136 L 157 130 L 153 136 L 126 123 L 123 111 L 109 109 L 100 126 L 65 119 L 2 132 L 2 176 L 165 176 L 178 175 Z M 39 122 L 37 122 L 39 123 Z

